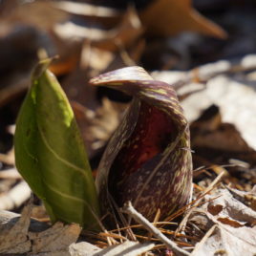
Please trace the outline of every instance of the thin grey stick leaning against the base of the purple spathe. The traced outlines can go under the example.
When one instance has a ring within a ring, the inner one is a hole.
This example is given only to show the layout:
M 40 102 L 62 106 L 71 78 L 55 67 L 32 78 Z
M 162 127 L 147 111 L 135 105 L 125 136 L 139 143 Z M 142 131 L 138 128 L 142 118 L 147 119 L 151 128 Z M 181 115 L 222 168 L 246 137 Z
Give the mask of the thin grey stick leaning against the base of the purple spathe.
M 166 236 L 164 236 L 160 230 L 151 224 L 147 219 L 145 219 L 132 205 L 131 202 L 125 203 L 122 211 L 127 213 L 130 217 L 134 218 L 139 224 L 142 224 L 148 231 L 152 232 L 152 234 L 160 239 L 160 241 L 166 245 L 169 249 L 172 249 L 178 256 L 188 256 L 189 252 L 181 249 L 174 242 L 169 240 Z

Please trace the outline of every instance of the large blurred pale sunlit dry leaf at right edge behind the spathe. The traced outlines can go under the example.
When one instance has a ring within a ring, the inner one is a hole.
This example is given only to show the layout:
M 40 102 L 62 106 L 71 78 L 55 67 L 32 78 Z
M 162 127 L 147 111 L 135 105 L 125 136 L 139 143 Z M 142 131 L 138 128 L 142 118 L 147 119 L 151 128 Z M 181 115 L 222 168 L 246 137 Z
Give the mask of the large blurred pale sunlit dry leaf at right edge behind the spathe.
M 219 75 L 207 83 L 206 95 L 218 105 L 224 122 L 238 129 L 249 147 L 256 149 L 254 115 L 256 85 L 246 79 Z

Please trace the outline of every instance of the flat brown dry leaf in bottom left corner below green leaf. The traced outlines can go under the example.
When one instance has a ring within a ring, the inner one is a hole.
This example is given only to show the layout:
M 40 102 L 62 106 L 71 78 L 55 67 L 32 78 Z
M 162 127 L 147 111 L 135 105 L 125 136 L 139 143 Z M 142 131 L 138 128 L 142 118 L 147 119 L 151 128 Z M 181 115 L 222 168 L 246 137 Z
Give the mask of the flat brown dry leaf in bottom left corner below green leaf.
M 3 212 L 1 212 L 0 253 L 70 255 L 69 246 L 75 243 L 80 234 L 79 225 L 56 223 L 47 228 L 44 223 L 32 220 L 31 213 L 31 204 L 24 207 L 20 217 L 18 215 L 12 217 L 13 214 L 9 214 L 6 221 L 5 219 L 3 221 Z

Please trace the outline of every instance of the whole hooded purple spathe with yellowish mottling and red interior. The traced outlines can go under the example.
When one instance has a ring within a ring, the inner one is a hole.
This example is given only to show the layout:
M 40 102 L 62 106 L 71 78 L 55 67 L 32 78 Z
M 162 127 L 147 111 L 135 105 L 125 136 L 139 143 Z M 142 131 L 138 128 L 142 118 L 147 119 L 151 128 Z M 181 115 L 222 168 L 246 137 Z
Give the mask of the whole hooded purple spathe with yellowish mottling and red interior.
M 188 203 L 192 188 L 189 129 L 172 86 L 129 67 L 91 81 L 134 96 L 100 161 L 96 187 L 103 214 L 127 201 L 147 219 Z

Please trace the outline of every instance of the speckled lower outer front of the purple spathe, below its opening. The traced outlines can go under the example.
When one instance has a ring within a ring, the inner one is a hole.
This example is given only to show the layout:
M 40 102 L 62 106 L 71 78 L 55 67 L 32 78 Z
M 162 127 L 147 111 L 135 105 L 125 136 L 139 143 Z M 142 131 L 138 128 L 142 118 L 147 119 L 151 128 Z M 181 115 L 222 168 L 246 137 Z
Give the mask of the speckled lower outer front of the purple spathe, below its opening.
M 177 148 L 182 146 L 186 145 L 177 145 Z M 122 200 L 119 205 L 131 200 L 139 212 L 149 220 L 154 219 L 157 208 L 160 208 L 161 216 L 166 217 L 174 209 L 185 205 L 191 192 L 191 186 L 186 185 L 191 181 L 191 174 L 186 168 L 182 168 L 182 164 L 190 152 L 180 151 L 182 157 L 170 154 L 163 159 L 162 155 L 159 155 L 148 161 L 133 175 L 126 177 L 119 189 L 118 195 Z M 160 160 L 162 160 L 161 164 L 159 164 Z M 145 185 L 153 172 L 156 175 Z M 116 199 L 118 203 L 119 198 Z

